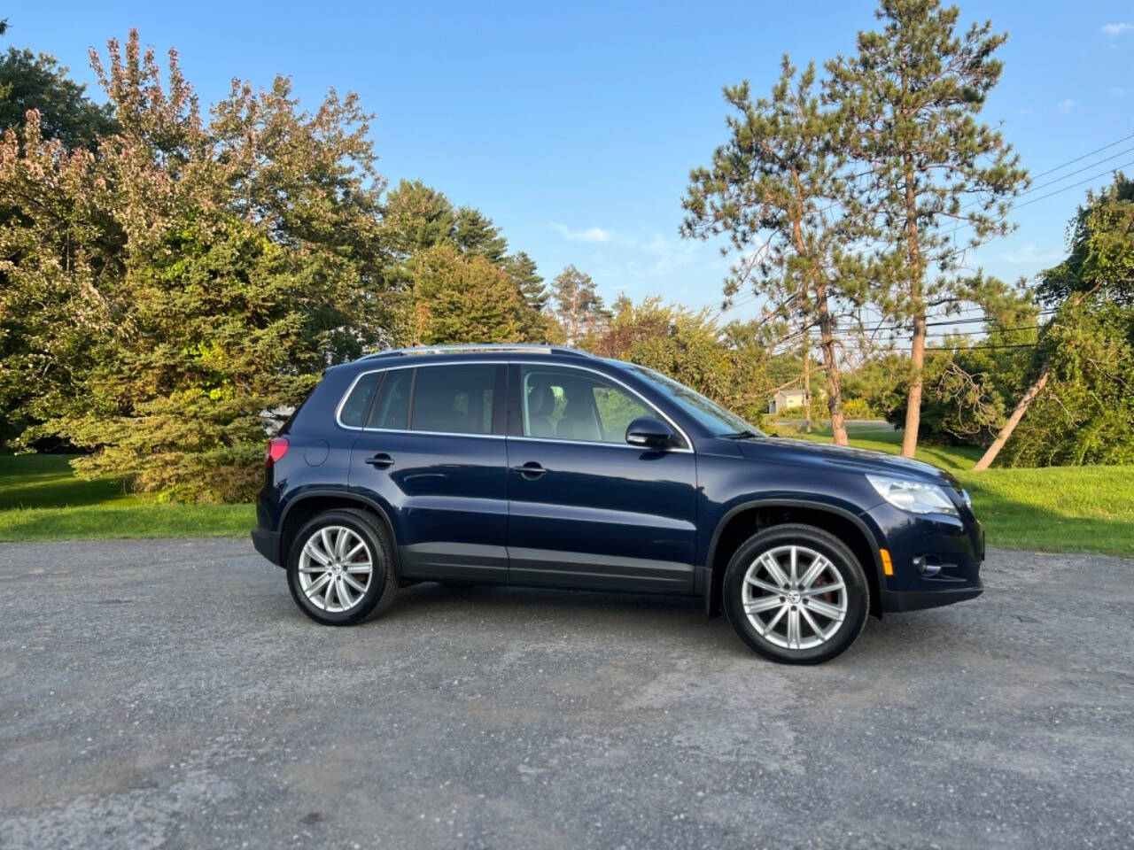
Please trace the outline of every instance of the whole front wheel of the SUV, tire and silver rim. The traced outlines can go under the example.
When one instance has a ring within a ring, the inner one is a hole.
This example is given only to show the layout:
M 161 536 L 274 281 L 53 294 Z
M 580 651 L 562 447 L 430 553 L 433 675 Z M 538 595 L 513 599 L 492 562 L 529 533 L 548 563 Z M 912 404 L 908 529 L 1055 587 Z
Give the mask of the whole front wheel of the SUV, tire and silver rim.
M 741 638 L 787 664 L 833 658 L 858 637 L 870 610 L 870 585 L 854 553 L 806 525 L 750 537 L 729 561 L 722 590 Z

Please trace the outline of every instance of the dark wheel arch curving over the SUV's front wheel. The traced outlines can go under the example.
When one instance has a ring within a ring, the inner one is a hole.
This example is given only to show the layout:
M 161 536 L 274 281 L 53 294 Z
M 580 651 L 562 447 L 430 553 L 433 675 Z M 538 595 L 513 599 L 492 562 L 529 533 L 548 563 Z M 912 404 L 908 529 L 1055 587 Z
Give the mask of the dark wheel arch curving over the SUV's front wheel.
M 705 556 L 706 580 L 702 587 L 705 613 L 721 611 L 721 584 L 733 553 L 756 532 L 777 525 L 802 522 L 833 534 L 855 554 L 870 583 L 870 613 L 882 615 L 882 556 L 878 541 L 863 519 L 833 504 L 803 499 L 754 499 L 730 508 L 709 542 Z

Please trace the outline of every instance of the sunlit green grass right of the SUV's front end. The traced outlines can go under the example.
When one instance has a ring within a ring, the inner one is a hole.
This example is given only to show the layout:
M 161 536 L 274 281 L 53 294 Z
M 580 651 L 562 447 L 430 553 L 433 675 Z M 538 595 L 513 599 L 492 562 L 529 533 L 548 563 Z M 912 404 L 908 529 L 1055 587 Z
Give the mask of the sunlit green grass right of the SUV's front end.
M 829 442 L 829 431 L 798 434 Z M 897 454 L 902 433 L 858 428 L 850 444 Z M 956 475 L 973 498 L 990 546 L 1134 556 L 1134 466 L 988 469 L 973 447 L 920 445 L 917 459 Z

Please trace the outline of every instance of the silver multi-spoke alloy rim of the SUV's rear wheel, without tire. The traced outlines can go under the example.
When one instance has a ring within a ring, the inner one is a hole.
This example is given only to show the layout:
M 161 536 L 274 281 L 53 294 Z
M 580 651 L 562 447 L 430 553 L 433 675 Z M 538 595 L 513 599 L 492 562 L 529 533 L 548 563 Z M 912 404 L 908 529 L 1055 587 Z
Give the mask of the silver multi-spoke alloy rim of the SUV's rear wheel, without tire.
M 299 553 L 299 587 L 322 611 L 341 614 L 366 595 L 374 562 L 366 542 L 346 526 L 315 530 Z

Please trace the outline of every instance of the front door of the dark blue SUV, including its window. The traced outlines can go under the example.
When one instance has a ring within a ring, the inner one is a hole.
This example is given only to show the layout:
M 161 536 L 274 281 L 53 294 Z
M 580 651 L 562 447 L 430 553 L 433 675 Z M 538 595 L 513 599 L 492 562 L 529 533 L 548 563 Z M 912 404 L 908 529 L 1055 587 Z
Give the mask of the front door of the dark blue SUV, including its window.
M 692 593 L 692 447 L 626 443 L 633 419 L 665 417 L 616 379 L 539 363 L 509 368 L 508 580 Z

